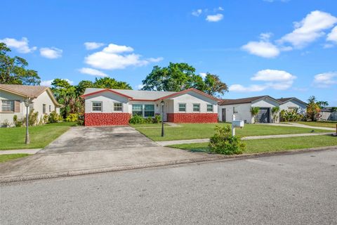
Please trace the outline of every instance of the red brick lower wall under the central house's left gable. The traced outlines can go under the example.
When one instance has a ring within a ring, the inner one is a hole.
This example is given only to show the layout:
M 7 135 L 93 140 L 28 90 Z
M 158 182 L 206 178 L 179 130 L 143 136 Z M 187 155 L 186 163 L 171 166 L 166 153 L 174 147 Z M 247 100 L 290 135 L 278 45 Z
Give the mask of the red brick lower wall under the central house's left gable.
M 128 113 L 86 113 L 85 126 L 127 125 L 131 115 Z

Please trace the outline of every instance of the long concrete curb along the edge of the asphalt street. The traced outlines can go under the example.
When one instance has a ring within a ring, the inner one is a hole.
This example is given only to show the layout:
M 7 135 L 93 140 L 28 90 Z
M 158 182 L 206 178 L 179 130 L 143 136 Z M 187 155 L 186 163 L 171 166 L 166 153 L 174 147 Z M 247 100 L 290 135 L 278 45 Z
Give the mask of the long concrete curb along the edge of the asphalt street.
M 50 179 L 50 178 L 59 178 L 66 176 L 79 176 L 86 174 L 98 174 L 105 172 L 117 172 L 130 169 L 144 169 L 144 168 L 154 168 L 154 167 L 166 167 L 166 166 L 179 166 L 179 165 L 188 165 L 194 163 L 205 163 L 205 162 L 221 162 L 227 160 L 244 160 L 248 158 L 260 158 L 260 157 L 270 157 L 276 155 L 293 155 L 299 153 L 310 153 L 321 150 L 337 150 L 337 146 L 328 146 L 328 147 L 319 147 L 319 148 L 304 148 L 299 150 L 284 150 L 271 153 L 253 153 L 253 154 L 243 154 L 243 155 L 212 155 L 211 157 L 192 159 L 192 160 L 174 160 L 168 162 L 155 162 L 143 165 L 129 165 L 129 166 L 119 166 L 119 167 L 105 167 L 97 169 L 81 169 L 75 171 L 67 172 L 55 172 L 49 174 L 34 174 L 28 176 L 5 176 L 0 177 L 0 184 L 18 182 L 18 181 L 32 181 L 39 179 Z

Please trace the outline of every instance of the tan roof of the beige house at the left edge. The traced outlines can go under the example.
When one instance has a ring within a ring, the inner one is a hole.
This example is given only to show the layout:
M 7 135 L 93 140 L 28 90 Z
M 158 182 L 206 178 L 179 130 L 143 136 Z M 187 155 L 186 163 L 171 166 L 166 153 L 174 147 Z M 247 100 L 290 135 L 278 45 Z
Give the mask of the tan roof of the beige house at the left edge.
M 20 84 L 0 84 L 0 90 L 8 91 L 18 96 L 23 96 L 25 98 L 37 98 L 40 94 L 47 91 L 51 100 L 55 105 L 61 106 L 58 101 L 56 101 L 53 92 L 48 86 L 30 86 L 30 85 L 20 85 Z

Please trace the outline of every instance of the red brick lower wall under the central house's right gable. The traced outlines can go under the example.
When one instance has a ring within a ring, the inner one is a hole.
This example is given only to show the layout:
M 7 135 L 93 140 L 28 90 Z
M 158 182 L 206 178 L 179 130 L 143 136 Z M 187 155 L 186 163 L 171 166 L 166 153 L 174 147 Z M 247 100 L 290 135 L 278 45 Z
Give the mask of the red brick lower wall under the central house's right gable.
M 167 122 L 179 122 L 179 123 L 218 122 L 218 113 L 167 113 Z

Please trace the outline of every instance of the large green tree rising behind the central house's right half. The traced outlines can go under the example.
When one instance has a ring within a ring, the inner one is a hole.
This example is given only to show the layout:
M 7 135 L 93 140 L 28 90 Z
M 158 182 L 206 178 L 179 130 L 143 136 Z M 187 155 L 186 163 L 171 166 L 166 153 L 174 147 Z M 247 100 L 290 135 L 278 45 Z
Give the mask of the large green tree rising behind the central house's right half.
M 169 63 L 168 67 L 154 66 L 152 72 L 143 80 L 143 90 L 183 91 L 198 89 L 216 96 L 227 91 L 227 85 L 217 75 L 207 73 L 205 80 L 195 74 L 195 68 L 187 63 Z

